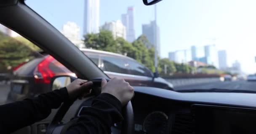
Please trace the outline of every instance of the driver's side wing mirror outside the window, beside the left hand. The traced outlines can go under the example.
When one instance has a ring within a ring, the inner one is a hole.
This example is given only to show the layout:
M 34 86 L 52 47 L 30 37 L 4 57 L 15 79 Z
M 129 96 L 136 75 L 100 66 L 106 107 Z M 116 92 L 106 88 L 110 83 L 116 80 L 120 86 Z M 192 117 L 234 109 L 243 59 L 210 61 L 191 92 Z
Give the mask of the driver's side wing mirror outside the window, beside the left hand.
M 73 82 L 76 78 L 71 76 L 56 76 L 51 79 L 51 89 L 64 88 Z

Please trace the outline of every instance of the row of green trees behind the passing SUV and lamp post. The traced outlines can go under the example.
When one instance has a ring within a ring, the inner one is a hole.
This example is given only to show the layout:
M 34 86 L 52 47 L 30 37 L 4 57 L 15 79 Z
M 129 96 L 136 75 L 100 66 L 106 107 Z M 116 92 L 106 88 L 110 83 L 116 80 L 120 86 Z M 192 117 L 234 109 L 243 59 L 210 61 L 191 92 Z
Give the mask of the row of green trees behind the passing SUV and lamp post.
M 141 35 L 129 43 L 123 38 L 118 37 L 114 39 L 111 31 L 101 30 L 97 34 L 87 34 L 85 37 L 85 46 L 87 48 L 114 52 L 118 54 L 123 54 L 133 59 L 136 59 L 139 63 L 144 64 L 149 70 L 155 72 L 155 48 L 151 44 L 147 37 Z M 167 58 L 160 59 L 158 57 L 158 72 L 160 75 L 164 74 L 164 67 L 167 66 L 167 74 L 171 75 L 173 73 L 192 73 L 195 72 L 194 67 L 190 67 L 188 64 L 178 64 L 173 61 L 169 61 Z

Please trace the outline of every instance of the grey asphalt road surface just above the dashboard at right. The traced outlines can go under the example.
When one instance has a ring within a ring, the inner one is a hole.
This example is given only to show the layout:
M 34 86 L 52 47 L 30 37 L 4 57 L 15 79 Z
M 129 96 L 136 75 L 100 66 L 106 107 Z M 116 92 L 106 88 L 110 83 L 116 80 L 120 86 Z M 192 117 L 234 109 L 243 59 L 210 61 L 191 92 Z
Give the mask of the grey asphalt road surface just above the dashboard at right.
M 248 82 L 245 80 L 243 81 L 241 80 L 241 81 L 211 82 L 211 83 L 205 83 L 205 84 L 180 86 L 174 89 L 184 90 L 184 89 L 211 89 L 211 88 L 256 91 L 256 81 Z

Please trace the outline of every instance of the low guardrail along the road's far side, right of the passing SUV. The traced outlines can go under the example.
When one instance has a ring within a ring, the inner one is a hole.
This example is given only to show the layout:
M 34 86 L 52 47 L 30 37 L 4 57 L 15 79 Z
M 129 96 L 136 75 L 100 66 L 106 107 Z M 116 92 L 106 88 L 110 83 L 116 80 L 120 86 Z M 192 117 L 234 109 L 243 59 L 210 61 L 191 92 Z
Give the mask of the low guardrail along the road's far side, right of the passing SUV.
M 209 82 L 218 82 L 221 81 L 221 77 L 211 77 L 211 78 L 181 78 L 181 79 L 165 79 L 168 82 L 171 82 L 174 87 L 184 86 L 184 85 L 195 85 L 203 84 Z

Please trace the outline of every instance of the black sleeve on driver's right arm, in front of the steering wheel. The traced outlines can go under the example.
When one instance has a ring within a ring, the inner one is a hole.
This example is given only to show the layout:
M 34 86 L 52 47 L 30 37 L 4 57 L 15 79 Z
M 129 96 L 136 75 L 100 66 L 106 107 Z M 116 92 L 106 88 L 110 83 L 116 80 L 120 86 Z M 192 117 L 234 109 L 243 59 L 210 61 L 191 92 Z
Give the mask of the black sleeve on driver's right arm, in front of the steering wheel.
M 111 126 L 123 120 L 121 103 L 115 96 L 101 93 L 94 98 L 92 106 L 83 108 L 75 124 L 67 134 L 110 134 Z

